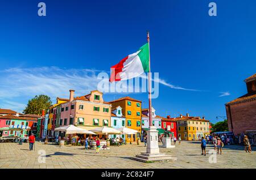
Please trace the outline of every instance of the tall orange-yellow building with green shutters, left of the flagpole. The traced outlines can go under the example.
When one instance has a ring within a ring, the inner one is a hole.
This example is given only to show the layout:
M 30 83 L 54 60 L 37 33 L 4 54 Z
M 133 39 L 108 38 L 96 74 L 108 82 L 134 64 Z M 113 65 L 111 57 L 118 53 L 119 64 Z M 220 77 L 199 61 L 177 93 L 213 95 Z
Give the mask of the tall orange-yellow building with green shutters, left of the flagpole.
M 126 135 L 126 142 L 136 142 L 137 138 L 141 138 L 141 101 L 127 96 L 109 103 L 113 108 L 121 106 L 122 114 L 126 119 L 126 127 L 138 131 L 137 134 Z

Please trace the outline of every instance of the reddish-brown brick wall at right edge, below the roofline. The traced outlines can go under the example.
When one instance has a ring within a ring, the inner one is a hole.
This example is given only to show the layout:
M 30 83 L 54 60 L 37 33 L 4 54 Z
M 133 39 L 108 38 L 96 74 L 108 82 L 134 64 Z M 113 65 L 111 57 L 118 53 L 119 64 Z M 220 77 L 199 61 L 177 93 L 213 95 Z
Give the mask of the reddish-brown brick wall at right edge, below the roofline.
M 234 135 L 246 130 L 256 130 L 256 100 L 230 105 L 230 110 L 226 105 L 226 115 L 229 131 L 232 131 L 233 125 Z

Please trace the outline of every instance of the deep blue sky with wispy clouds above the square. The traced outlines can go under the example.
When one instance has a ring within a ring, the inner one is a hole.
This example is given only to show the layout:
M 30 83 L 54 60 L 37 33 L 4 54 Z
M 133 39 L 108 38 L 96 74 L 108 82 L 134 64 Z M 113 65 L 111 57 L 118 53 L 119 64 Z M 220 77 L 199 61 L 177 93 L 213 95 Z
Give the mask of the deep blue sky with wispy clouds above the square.
M 216 122 L 216 115 L 226 115 L 226 102 L 246 93 L 243 80 L 256 73 L 253 0 L 44 0 L 46 17 L 37 14 L 39 2 L 0 1 L 0 108 L 22 112 L 35 95 L 55 101 L 71 88 L 85 95 L 98 72 L 146 43 L 146 30 L 151 70 L 169 84 L 160 84 L 152 100 L 158 115 L 189 113 Z M 208 15 L 209 2 L 217 3 L 215 17 Z M 146 108 L 145 93 L 129 96 Z

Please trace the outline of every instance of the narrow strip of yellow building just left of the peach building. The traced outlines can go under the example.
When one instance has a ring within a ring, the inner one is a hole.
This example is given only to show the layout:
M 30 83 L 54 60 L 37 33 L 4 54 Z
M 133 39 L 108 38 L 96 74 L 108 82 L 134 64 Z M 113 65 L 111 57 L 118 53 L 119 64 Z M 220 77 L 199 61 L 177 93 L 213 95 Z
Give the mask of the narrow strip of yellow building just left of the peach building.
M 56 104 L 49 106 L 49 118 L 48 118 L 48 125 L 47 125 L 47 135 L 53 136 L 54 128 L 55 128 L 55 115 L 56 114 L 56 106 L 68 102 L 69 100 L 66 98 L 56 98 Z

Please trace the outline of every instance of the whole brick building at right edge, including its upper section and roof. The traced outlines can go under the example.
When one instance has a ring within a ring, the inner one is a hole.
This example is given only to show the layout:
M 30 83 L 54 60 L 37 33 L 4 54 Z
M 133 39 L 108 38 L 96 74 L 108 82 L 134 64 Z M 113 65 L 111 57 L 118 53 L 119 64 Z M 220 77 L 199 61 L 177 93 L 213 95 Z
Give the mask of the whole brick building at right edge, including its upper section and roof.
M 256 130 L 256 74 L 245 79 L 247 93 L 225 104 L 229 131 L 234 135 Z

